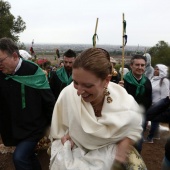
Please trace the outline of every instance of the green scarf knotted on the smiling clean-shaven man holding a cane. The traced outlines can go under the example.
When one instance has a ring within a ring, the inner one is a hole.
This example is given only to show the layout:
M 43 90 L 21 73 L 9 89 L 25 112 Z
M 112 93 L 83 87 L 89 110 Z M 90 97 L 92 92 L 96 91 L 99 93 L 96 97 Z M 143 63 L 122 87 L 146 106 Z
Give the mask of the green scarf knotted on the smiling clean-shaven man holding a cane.
M 135 77 L 132 75 L 132 71 L 129 71 L 127 74 L 124 75 L 124 79 L 130 83 L 133 84 L 137 87 L 136 89 L 136 96 L 138 94 L 142 95 L 145 92 L 145 82 L 146 82 L 146 77 L 145 75 L 142 75 L 142 78 L 140 80 L 140 83 L 137 82 L 137 80 L 135 79 Z

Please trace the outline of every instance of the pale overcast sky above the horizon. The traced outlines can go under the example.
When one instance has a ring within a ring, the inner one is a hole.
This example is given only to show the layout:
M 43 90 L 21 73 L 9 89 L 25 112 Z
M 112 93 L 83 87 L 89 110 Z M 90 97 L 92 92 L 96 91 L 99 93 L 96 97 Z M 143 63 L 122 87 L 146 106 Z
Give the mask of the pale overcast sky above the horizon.
M 127 45 L 154 46 L 170 42 L 170 0 L 7 0 L 21 16 L 24 43 L 92 44 L 96 19 L 97 44 L 122 44 L 122 14 Z

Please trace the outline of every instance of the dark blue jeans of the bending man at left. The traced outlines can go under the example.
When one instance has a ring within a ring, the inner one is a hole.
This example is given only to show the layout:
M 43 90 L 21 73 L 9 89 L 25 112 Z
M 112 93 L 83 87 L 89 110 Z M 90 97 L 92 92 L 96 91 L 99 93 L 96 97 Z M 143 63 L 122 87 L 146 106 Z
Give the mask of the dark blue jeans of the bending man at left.
M 13 153 L 16 170 L 41 170 L 41 165 L 35 155 L 37 142 L 21 141 Z

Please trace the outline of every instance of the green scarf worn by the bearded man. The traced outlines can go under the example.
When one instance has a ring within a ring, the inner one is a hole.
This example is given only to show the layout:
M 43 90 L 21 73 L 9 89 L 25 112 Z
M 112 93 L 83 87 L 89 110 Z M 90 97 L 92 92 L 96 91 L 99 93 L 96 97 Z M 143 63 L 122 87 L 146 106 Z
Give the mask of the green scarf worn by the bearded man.
M 72 82 L 72 76 L 68 78 L 67 72 L 64 67 L 61 67 L 56 71 L 58 78 L 63 82 L 69 85 Z

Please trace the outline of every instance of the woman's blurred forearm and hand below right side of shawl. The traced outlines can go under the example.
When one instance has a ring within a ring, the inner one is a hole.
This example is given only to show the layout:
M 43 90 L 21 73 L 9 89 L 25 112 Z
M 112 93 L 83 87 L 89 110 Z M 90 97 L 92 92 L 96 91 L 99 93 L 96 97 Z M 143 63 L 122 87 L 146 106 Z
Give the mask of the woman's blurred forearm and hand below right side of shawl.
M 127 162 L 128 153 L 131 149 L 133 142 L 129 138 L 124 138 L 122 141 L 120 141 L 117 145 L 117 151 L 116 151 L 116 161 L 120 163 Z

